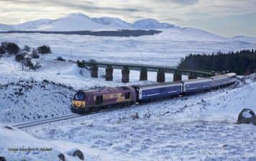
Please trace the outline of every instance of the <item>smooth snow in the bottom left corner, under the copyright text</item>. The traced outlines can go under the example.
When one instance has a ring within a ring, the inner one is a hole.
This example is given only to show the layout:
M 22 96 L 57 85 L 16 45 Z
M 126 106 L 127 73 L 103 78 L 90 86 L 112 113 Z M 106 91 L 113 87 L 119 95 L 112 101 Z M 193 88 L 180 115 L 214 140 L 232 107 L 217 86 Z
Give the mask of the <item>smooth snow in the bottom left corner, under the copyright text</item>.
M 70 155 L 72 149 L 80 149 L 86 160 L 113 160 L 101 150 L 91 150 L 84 144 L 37 139 L 15 128 L 0 126 L 0 138 L 0 156 L 6 160 L 59 160 L 58 155 L 63 154 L 65 160 L 78 161 L 78 157 Z

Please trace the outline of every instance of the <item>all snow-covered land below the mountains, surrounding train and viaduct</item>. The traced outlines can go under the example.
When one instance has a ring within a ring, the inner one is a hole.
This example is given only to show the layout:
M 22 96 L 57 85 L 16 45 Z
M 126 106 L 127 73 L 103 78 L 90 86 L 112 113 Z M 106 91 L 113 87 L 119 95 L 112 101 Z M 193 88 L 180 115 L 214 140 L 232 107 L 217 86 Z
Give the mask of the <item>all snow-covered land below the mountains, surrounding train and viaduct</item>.
M 178 27 L 142 37 L 1 34 L 0 42 L 17 42 L 20 47 L 45 44 L 52 49 L 52 54 L 37 60 L 42 68 L 35 71 L 22 70 L 14 56 L 1 57 L 1 124 L 68 115 L 70 98 L 80 88 L 152 83 L 156 79 L 156 73 L 148 73 L 148 81 L 138 81 L 140 73 L 131 71 L 130 83 L 124 84 L 121 71 L 114 70 L 114 81 L 108 82 L 102 76 L 104 69 L 99 69 L 99 78 L 91 78 L 88 70 L 54 61 L 55 57 L 177 65 L 191 52 L 256 48 L 252 39 L 237 39 Z M 167 80 L 172 78 L 166 75 Z M 86 160 L 256 160 L 255 126 L 235 124 L 242 109 L 256 111 L 255 75 L 249 78 L 239 86 L 209 93 L 25 129 L 27 134 L 1 126 L 0 156 L 7 160 L 58 160 L 63 153 L 68 160 L 78 160 L 68 155 L 70 149 L 78 148 Z M 9 151 L 17 147 L 52 147 L 52 151 Z

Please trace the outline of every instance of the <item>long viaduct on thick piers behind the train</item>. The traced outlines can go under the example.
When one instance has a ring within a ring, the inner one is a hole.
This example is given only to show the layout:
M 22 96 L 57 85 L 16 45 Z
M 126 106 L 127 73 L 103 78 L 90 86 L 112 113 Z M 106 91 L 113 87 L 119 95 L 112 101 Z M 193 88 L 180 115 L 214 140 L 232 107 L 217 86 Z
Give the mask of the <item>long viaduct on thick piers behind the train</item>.
M 94 61 L 78 61 L 78 67 L 90 68 L 91 77 L 98 78 L 98 68 L 105 68 L 106 80 L 113 80 L 113 70 L 122 70 L 122 83 L 129 82 L 129 70 L 140 70 L 140 80 L 147 80 L 147 71 L 157 72 L 157 82 L 165 82 L 165 73 L 173 73 L 173 81 L 182 80 L 182 75 L 188 75 L 188 79 L 194 79 L 197 77 L 205 78 L 214 75 L 212 72 L 206 72 L 201 70 L 186 70 L 177 69 L 168 66 L 159 65 L 142 65 L 132 63 L 109 63 L 109 62 L 94 62 Z

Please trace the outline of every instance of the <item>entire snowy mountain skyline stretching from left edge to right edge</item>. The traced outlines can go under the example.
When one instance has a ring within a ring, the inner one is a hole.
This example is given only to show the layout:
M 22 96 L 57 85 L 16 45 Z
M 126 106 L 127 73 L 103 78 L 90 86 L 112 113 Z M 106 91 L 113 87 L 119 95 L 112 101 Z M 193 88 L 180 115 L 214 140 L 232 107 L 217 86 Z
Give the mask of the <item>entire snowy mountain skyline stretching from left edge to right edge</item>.
M 179 27 L 174 24 L 161 23 L 157 19 L 139 19 L 134 23 L 125 22 L 116 17 L 88 17 L 85 14 L 74 13 L 59 19 L 38 19 L 22 24 L 0 24 L 0 31 L 22 30 L 22 31 L 99 31 L 116 29 L 161 29 L 168 32 L 172 40 L 183 39 L 183 37 L 193 37 L 193 40 L 226 40 L 202 29 Z M 162 35 L 163 36 L 163 35 Z M 229 38 L 232 41 L 256 43 L 256 37 L 237 36 Z

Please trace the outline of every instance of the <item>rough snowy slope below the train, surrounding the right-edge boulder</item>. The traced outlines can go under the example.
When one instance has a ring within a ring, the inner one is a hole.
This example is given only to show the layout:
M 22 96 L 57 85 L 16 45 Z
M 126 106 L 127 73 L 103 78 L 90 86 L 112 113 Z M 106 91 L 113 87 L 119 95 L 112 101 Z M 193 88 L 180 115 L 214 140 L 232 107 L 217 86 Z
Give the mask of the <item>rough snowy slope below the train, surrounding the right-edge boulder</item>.
M 254 126 L 234 123 L 244 106 L 256 111 L 256 83 L 234 87 L 93 114 L 29 132 L 40 139 L 86 144 L 116 160 L 255 160 Z

